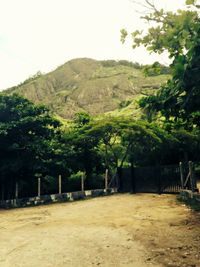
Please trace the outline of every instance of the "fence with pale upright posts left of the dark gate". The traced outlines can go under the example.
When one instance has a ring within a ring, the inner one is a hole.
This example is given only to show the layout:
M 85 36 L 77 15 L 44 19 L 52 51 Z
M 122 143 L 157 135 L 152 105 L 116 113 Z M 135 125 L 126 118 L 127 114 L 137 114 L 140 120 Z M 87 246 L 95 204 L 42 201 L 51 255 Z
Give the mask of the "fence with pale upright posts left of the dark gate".
M 0 200 L 19 199 L 28 197 L 41 197 L 42 195 L 62 194 L 63 192 L 75 192 L 94 189 L 107 190 L 114 185 L 114 180 L 109 177 L 106 169 L 104 175 L 91 178 L 89 183 L 82 173 L 80 178 L 69 179 L 58 175 L 57 178 L 48 177 L 48 179 L 38 177 L 28 180 L 28 183 L 22 181 L 6 181 L 0 184 Z

